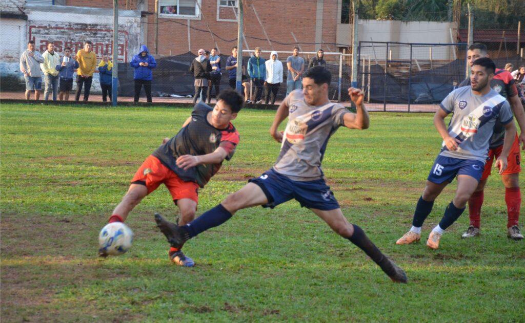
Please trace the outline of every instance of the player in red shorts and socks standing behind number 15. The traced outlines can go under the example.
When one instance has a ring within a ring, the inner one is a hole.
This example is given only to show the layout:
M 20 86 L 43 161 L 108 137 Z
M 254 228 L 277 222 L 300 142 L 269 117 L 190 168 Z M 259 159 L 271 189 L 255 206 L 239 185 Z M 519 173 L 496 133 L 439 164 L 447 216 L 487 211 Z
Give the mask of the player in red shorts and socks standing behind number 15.
M 488 57 L 487 47 L 484 44 L 472 44 L 467 51 L 467 62 L 472 66 L 472 63 L 478 58 Z M 470 85 L 470 79 L 459 84 L 459 87 Z M 518 96 L 518 91 L 514 79 L 506 70 L 496 69 L 496 73 L 490 87 L 504 96 L 510 103 L 514 117 L 518 121 L 521 134 L 516 135 L 514 143 L 507 158 L 508 167 L 501 174 L 501 180 L 505 185 L 505 202 L 507 203 L 507 235 L 513 240 L 523 239 L 518 226 L 520 207 L 521 207 L 521 192 L 519 187 L 519 173 L 521 171 L 520 162 L 520 142 L 525 149 L 525 113 L 523 105 Z M 471 238 L 479 235 L 481 205 L 484 199 L 484 188 L 487 184 L 487 179 L 490 175 L 492 162 L 501 154 L 503 147 L 503 137 L 505 128 L 501 123 L 497 123 L 494 127 L 494 134 L 492 135 L 489 145 L 489 157 L 485 164 L 485 171 L 481 176 L 476 191 L 472 194 L 468 201 L 470 225 L 467 231 L 462 235 L 463 238 Z

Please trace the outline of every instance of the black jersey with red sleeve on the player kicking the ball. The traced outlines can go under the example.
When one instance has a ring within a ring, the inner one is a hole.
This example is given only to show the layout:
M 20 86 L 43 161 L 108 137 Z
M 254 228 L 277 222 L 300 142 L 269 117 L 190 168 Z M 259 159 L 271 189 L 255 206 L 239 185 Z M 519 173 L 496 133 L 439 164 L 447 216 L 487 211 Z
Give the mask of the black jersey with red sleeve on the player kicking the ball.
M 190 123 L 153 153 L 153 156 L 159 158 L 162 164 L 173 170 L 182 180 L 197 182 L 200 187 L 206 185 L 222 163 L 198 165 L 184 170 L 176 165 L 177 158 L 183 155 L 211 154 L 218 147 L 222 147 L 228 153 L 226 160 L 230 160 L 239 143 L 239 133 L 231 123 L 225 129 L 217 129 L 208 123 L 207 115 L 212 110 L 202 102 L 197 103 Z

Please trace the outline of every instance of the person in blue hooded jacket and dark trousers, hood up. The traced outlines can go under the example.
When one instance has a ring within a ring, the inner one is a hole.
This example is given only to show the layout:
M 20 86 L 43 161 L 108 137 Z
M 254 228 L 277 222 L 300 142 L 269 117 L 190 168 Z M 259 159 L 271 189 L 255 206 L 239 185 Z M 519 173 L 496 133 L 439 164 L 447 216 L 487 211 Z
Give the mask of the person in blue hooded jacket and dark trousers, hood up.
M 144 85 L 146 98 L 151 102 L 151 80 L 153 80 L 153 72 L 151 71 L 157 66 L 155 58 L 150 55 L 148 47 L 142 45 L 137 55 L 133 56 L 130 62 L 131 67 L 135 69 L 133 79 L 135 80 L 135 99 L 134 102 L 139 102 L 140 90 Z

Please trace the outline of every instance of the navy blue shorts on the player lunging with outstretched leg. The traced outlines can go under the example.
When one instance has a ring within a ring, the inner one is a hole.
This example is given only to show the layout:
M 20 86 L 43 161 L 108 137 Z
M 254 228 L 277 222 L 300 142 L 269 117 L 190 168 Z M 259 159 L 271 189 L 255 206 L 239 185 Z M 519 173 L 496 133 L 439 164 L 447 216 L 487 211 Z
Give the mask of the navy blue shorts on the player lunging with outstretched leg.
M 330 211 L 339 209 L 339 203 L 333 196 L 330 186 L 324 179 L 297 181 L 270 169 L 257 178 L 249 180 L 258 185 L 265 193 L 268 203 L 263 208 L 275 208 L 291 199 L 301 203 L 301 207 Z

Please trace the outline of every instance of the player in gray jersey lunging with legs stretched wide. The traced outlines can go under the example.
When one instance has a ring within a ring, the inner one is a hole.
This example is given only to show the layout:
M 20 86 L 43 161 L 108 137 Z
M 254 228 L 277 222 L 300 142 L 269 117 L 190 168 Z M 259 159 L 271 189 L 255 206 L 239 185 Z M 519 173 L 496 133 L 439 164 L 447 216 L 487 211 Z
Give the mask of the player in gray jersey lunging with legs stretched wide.
M 188 239 L 226 222 L 238 210 L 254 206 L 274 208 L 295 199 L 327 222 L 333 231 L 360 247 L 392 281 L 407 282 L 405 272 L 384 255 L 358 225 L 346 220 L 324 181 L 321 161 L 330 136 L 342 125 L 350 129 L 369 127 L 363 92 L 349 89 L 356 105 L 356 113 L 351 113 L 328 99 L 330 81 L 327 69 L 311 68 L 302 79 L 303 90 L 292 91 L 279 106 L 270 128 L 271 136 L 282 142 L 274 167 L 186 225 L 175 225 L 155 214 L 159 229 L 172 247 L 182 247 Z M 288 124 L 281 133 L 278 127 L 286 117 Z

